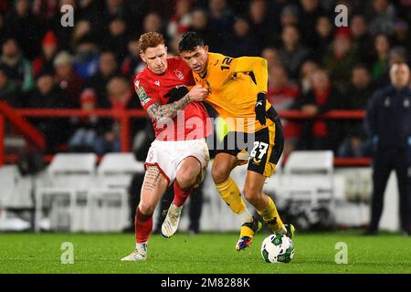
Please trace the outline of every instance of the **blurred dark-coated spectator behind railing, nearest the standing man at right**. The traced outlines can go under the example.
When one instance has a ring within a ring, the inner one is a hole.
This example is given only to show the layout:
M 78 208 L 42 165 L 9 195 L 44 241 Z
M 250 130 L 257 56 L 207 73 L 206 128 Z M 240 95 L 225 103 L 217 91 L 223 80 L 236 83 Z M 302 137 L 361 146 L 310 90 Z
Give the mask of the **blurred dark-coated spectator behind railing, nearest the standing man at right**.
M 351 87 L 347 94 L 344 109 L 366 110 L 368 101 L 374 92 L 371 74 L 364 65 L 353 68 Z M 346 122 L 347 134 L 338 151 L 342 157 L 363 157 L 370 154 L 366 145 L 363 120 Z

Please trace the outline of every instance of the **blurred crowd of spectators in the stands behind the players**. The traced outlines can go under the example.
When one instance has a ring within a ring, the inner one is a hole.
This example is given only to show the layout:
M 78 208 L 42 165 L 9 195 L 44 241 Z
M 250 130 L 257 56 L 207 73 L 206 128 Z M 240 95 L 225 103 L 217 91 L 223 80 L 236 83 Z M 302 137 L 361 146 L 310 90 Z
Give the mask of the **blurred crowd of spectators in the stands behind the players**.
M 61 5 L 74 7 L 74 26 L 61 26 Z M 335 26 L 336 5 L 347 6 L 349 26 Z M 389 65 L 411 57 L 410 19 L 409 0 L 4 0 L 0 99 L 16 108 L 141 109 L 132 89 L 144 68 L 139 36 L 162 33 L 173 56 L 192 30 L 212 52 L 265 57 L 277 110 L 365 110 L 374 90 L 389 83 Z M 48 152 L 62 144 L 120 151 L 116 120 L 31 121 L 45 133 Z M 283 123 L 285 155 L 368 155 L 362 120 Z M 146 126 L 135 120 L 133 132 Z

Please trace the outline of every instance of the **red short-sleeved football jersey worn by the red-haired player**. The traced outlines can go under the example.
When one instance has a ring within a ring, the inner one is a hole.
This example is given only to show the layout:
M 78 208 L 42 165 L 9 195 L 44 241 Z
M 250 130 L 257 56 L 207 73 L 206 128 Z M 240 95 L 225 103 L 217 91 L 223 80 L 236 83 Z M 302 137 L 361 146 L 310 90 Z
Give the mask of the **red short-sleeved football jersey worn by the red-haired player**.
M 181 57 L 167 58 L 167 69 L 161 75 L 144 68 L 142 73 L 134 78 L 134 89 L 147 110 L 156 102 L 166 104 L 168 98 L 164 95 L 178 86 L 194 86 L 195 80 L 191 69 Z M 208 114 L 200 102 L 190 102 L 184 110 L 174 117 L 173 124 L 157 124 L 152 120 L 155 137 L 161 141 L 183 141 L 205 138 L 211 127 L 207 127 Z

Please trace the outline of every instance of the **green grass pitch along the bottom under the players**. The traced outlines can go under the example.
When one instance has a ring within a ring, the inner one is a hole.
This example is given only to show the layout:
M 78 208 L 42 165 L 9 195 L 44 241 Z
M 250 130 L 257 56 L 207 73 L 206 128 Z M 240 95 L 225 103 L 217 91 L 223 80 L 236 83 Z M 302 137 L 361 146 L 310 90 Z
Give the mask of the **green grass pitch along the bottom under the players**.
M 290 264 L 267 264 L 260 234 L 248 250 L 234 248 L 237 234 L 152 235 L 148 259 L 121 262 L 132 252 L 132 234 L 0 234 L 0 273 L 411 273 L 411 238 L 363 236 L 358 231 L 297 234 Z M 61 264 L 64 242 L 74 246 L 74 264 Z M 348 264 L 337 265 L 338 242 L 348 245 Z

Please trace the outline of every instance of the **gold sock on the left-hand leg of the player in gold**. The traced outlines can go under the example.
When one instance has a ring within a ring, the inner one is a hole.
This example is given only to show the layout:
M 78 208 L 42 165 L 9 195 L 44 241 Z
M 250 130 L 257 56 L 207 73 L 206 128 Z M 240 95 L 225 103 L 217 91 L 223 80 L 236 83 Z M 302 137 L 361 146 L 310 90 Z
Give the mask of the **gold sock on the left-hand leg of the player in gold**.
M 228 207 L 235 213 L 240 214 L 246 210 L 246 204 L 241 197 L 237 183 L 231 177 L 223 182 L 216 184 L 216 189 L 221 198 L 227 203 Z

